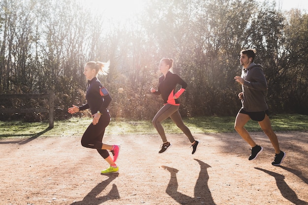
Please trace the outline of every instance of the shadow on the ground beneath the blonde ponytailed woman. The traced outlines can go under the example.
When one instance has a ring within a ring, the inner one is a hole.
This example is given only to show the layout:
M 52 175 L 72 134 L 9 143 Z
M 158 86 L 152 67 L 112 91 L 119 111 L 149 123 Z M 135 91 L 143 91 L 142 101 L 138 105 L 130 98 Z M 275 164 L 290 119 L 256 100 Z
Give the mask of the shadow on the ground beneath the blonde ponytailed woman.
M 106 176 L 109 176 L 109 178 L 97 184 L 82 201 L 73 202 L 71 205 L 100 205 L 108 200 L 119 199 L 120 194 L 115 184 L 112 185 L 112 189 L 106 196 L 97 197 L 97 195 L 99 195 L 107 187 L 107 185 L 111 183 L 112 180 L 117 178 L 119 174 L 110 174 Z

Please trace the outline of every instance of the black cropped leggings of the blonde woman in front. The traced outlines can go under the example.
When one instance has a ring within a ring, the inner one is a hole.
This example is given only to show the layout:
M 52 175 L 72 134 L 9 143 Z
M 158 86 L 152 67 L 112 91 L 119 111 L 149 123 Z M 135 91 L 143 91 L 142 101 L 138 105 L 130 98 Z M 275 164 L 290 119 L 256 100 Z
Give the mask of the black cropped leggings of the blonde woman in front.
M 102 115 L 98 120 L 98 123 L 95 125 L 91 123 L 81 138 L 82 146 L 96 149 L 104 159 L 109 157 L 108 150 L 101 149 L 101 147 L 103 146 L 102 140 L 105 133 L 105 129 L 108 126 L 109 122 L 110 122 L 109 112 L 102 113 Z

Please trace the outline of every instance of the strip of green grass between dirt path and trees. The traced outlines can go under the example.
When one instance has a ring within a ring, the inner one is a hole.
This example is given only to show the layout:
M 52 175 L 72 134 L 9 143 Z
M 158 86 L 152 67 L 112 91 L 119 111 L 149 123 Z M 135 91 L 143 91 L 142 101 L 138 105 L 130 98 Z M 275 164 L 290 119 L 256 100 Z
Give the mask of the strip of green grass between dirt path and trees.
M 192 133 L 234 132 L 235 117 L 190 117 L 183 119 Z M 274 131 L 307 131 L 308 116 L 305 115 L 275 115 L 271 116 Z M 55 121 L 54 128 L 48 129 L 48 122 L 0 121 L 0 137 L 31 137 L 35 134 L 45 137 L 64 137 L 82 135 L 91 118 L 72 117 L 67 120 Z M 182 133 L 182 131 L 167 119 L 162 123 L 166 133 Z M 262 131 L 256 121 L 249 120 L 248 131 Z M 110 122 L 106 129 L 109 135 L 139 135 L 157 134 L 151 120 L 116 119 Z

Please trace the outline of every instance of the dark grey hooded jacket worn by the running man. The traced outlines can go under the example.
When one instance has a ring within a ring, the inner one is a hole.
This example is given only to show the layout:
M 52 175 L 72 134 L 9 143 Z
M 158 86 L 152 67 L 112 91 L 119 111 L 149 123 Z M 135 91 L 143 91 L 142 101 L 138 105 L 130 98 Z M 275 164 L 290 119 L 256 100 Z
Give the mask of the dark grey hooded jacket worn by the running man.
M 268 109 L 264 91 L 267 90 L 267 82 L 260 64 L 250 63 L 242 70 L 241 76 L 245 82 L 242 85 L 242 108 L 246 112 L 261 112 Z

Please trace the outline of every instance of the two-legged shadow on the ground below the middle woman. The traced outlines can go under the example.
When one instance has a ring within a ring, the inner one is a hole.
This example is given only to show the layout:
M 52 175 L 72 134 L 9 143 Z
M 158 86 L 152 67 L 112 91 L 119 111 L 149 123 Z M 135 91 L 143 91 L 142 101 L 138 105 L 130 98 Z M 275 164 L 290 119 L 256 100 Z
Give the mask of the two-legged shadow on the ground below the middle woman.
M 178 179 L 176 174 L 179 171 L 177 169 L 161 166 L 171 174 L 166 193 L 181 205 L 199 205 L 202 202 L 208 205 L 215 205 L 208 186 L 209 174 L 207 168 L 211 166 L 198 159 L 195 160 L 199 163 L 201 169 L 194 188 L 194 197 L 189 197 L 178 192 Z

